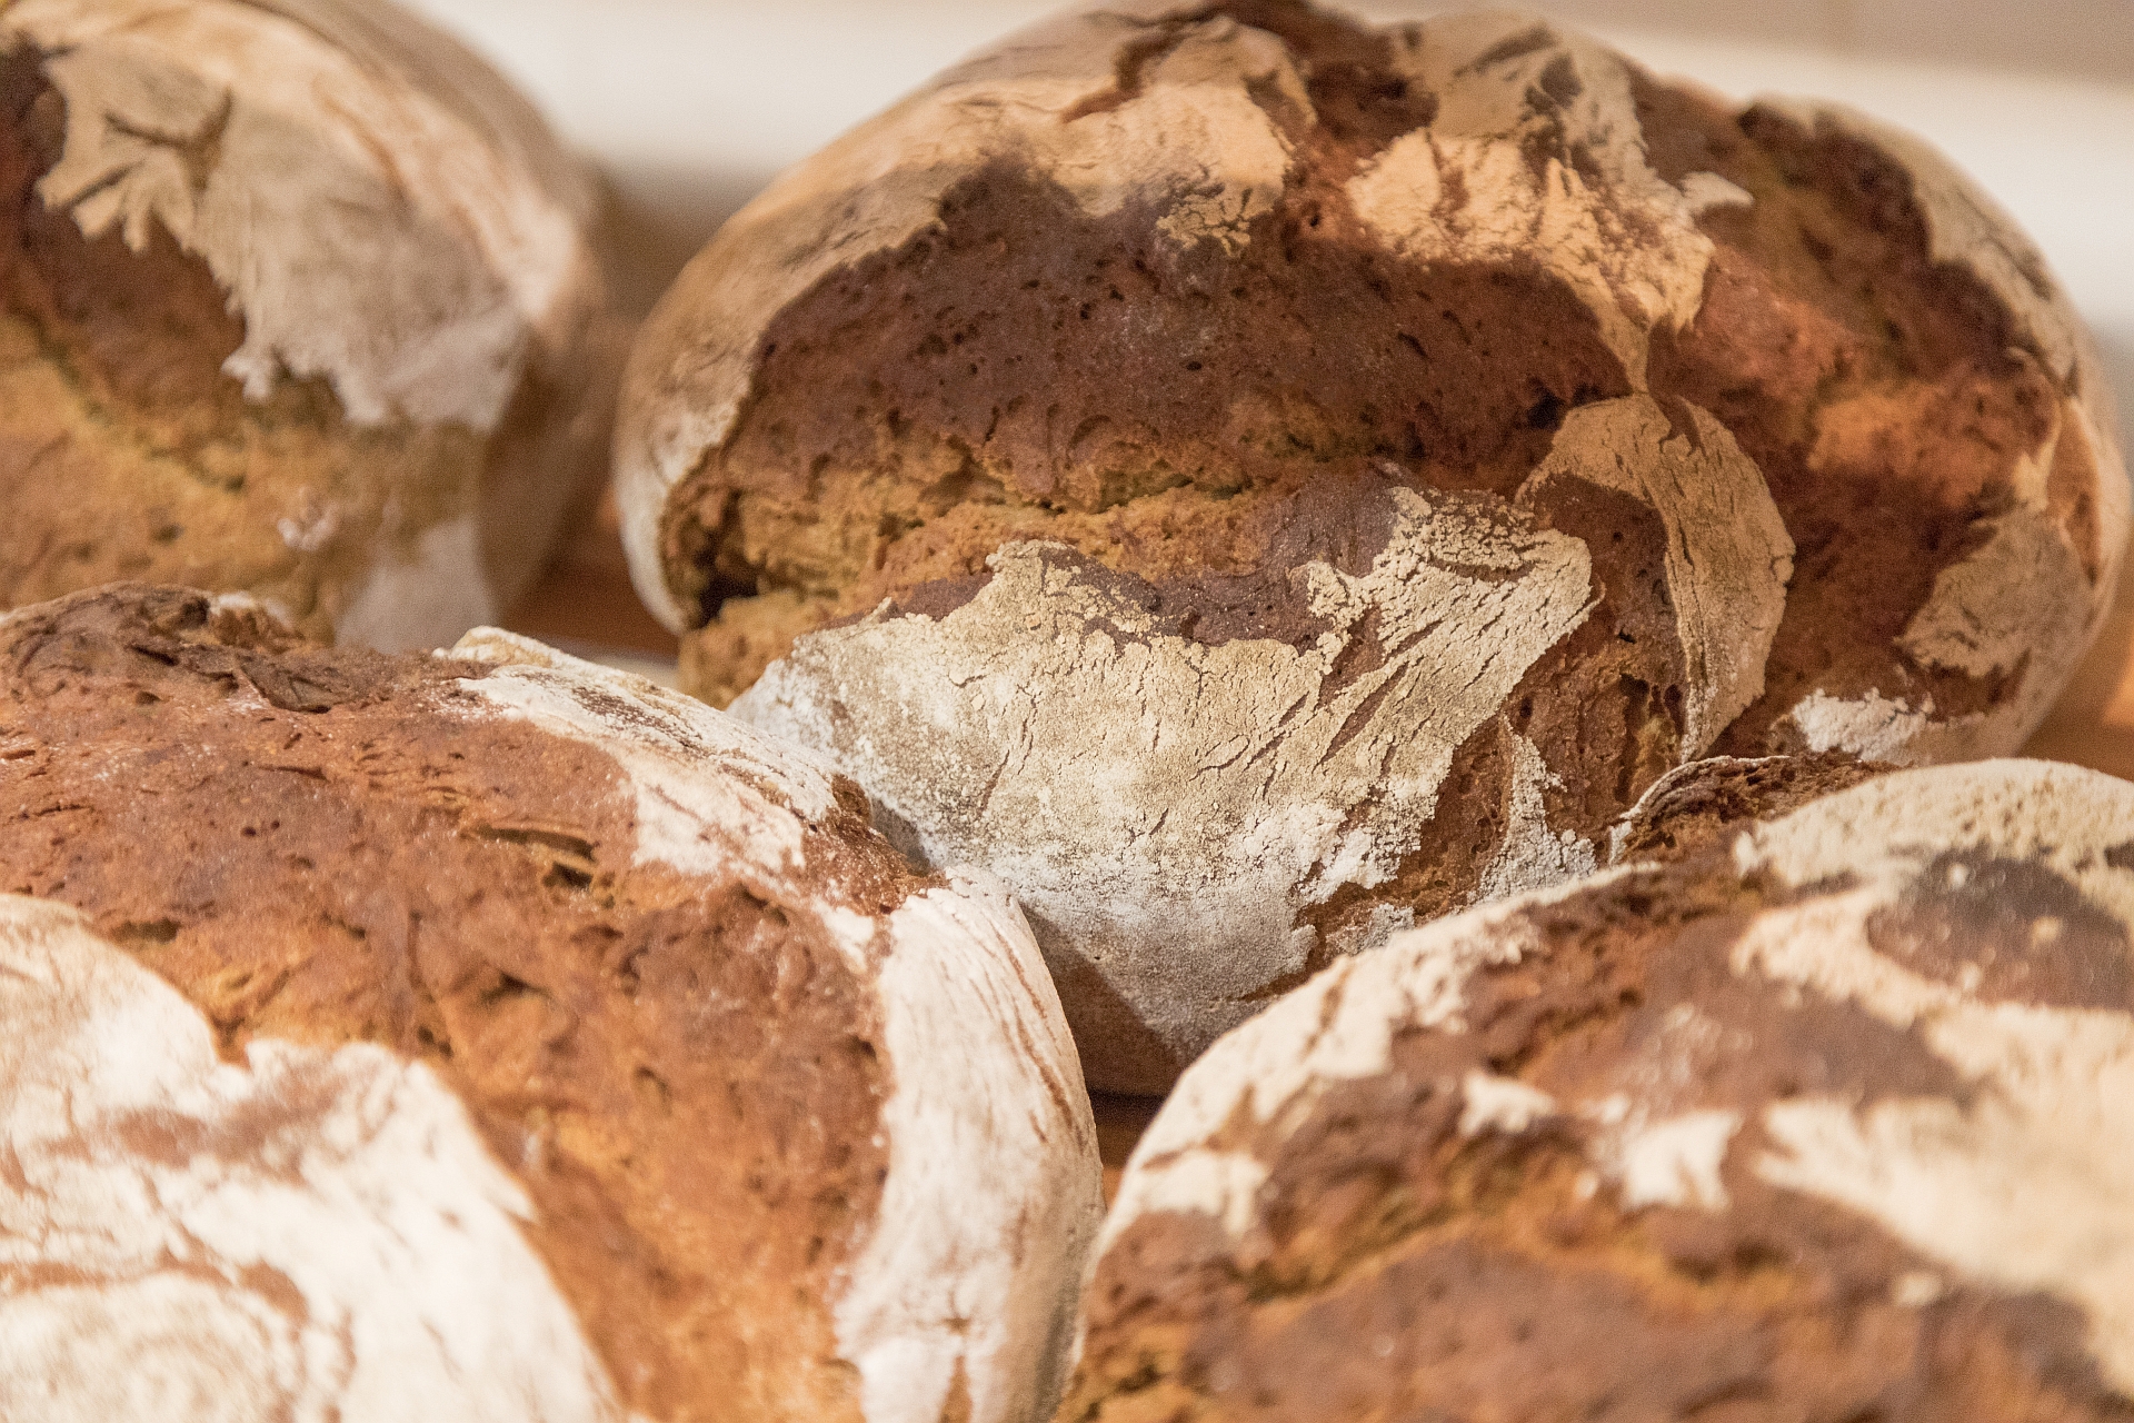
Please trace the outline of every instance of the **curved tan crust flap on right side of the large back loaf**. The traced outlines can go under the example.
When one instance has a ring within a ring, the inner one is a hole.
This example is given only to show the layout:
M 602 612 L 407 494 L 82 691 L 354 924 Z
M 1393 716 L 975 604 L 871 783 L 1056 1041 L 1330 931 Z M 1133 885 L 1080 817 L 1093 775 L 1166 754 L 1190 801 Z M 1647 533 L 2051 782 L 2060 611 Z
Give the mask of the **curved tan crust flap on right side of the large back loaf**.
M 1667 533 L 1667 595 L 1682 646 L 1684 762 L 1711 749 L 1763 695 L 1763 666 L 1786 617 L 1793 538 L 1771 489 L 1724 425 L 1682 403 L 1686 429 L 1647 395 L 1579 405 L 1519 491 L 1583 480 L 1650 506 Z

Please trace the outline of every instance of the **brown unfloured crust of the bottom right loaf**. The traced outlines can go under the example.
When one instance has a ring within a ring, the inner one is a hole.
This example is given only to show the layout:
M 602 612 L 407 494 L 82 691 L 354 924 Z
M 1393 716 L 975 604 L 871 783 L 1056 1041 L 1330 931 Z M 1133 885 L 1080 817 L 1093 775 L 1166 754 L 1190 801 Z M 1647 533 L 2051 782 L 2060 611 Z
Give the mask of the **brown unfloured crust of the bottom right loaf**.
M 1970 1086 L 1916 1028 L 1835 1001 L 1773 1013 L 1767 988 L 1729 964 L 1769 900 L 1711 866 L 1692 858 L 1526 909 L 1547 949 L 1466 984 L 1466 1033 L 1396 1035 L 1385 1073 L 1325 1084 L 1302 1122 L 1219 1133 L 1212 1148 L 1272 1161 L 1251 1244 L 1204 1214 L 1133 1220 L 1084 1295 L 1063 1423 L 2134 1419 L 2091 1361 L 2081 1310 L 1972 1286 L 1904 1301 L 1906 1276 L 1946 1276 L 1867 1218 L 1750 1169 L 1771 1146 L 1756 1122 L 1769 1101 L 1961 1103 Z M 2053 879 L 2002 877 L 1942 902 L 1957 930 L 1942 941 L 2064 913 L 2072 888 Z M 2125 930 L 2111 930 L 2074 956 L 2123 966 Z M 2134 1007 L 2123 973 L 1980 992 Z M 1682 1039 L 1684 1005 L 1711 1033 Z M 1692 1082 L 1701 1105 L 1743 1109 L 1724 1212 L 1622 1210 L 1594 1190 L 1598 1129 L 1583 1118 L 1458 1129 L 1468 1071 L 1575 1099 L 1641 1062 Z

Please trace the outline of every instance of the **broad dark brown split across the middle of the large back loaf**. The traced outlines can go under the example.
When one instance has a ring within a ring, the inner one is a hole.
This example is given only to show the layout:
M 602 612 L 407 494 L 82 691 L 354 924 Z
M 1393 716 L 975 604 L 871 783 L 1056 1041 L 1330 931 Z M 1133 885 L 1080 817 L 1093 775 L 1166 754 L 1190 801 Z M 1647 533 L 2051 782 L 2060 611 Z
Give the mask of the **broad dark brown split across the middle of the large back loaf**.
M 817 623 L 973 578 L 1020 538 L 1154 582 L 1280 576 L 1263 531 L 1317 486 L 1391 461 L 1509 495 L 1547 450 L 1536 401 L 1626 390 L 1562 288 L 1419 277 L 1340 203 L 1291 192 L 1225 258 L 1174 254 L 1146 207 L 1088 220 L 1007 164 L 965 179 L 939 228 L 777 318 L 734 435 L 670 501 L 670 561 L 792 591 Z

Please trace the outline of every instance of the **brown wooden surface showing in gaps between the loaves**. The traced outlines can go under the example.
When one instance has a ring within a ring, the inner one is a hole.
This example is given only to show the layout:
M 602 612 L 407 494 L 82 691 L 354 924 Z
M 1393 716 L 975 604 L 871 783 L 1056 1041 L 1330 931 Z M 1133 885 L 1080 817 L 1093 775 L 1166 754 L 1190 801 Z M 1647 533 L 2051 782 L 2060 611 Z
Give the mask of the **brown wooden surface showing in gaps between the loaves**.
M 600 514 L 557 555 L 540 585 L 512 612 L 508 627 L 580 657 L 672 676 L 674 636 L 644 612 L 630 587 L 612 499 L 604 499 Z M 2119 578 L 2098 644 L 2023 753 L 2134 779 L 2130 672 L 2134 672 L 2134 557 Z M 1103 1154 L 1103 1199 L 1110 1201 L 1118 1193 L 1120 1167 L 1148 1129 L 1159 1101 L 1097 1092 L 1093 1105 L 1097 1148 Z

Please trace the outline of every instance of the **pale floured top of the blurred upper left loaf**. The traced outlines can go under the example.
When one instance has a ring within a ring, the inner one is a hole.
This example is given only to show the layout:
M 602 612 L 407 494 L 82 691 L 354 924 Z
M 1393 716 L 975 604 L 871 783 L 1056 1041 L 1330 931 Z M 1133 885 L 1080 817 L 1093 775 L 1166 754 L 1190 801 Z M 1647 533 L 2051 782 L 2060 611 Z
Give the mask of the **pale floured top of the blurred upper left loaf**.
M 356 425 L 495 427 L 598 303 L 593 190 L 495 73 L 369 0 L 15 0 L 66 100 L 38 198 L 162 226 L 243 318 L 224 371 L 324 378 Z

